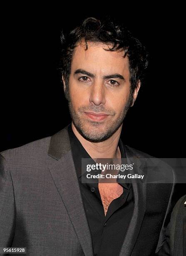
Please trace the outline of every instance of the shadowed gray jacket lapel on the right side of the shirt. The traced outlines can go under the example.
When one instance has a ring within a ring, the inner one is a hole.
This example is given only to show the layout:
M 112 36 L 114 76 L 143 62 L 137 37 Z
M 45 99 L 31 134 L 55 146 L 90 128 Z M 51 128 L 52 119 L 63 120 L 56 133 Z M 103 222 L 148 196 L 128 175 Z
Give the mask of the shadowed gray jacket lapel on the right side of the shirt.
M 124 148 L 126 152 L 127 161 L 129 164 L 132 164 L 130 159 L 132 158 L 134 160 L 136 156 L 129 150 L 129 148 L 127 148 L 126 146 Z M 137 170 L 139 170 L 139 172 L 136 170 L 135 173 L 141 173 L 143 164 L 137 158 L 135 164 Z M 132 183 L 132 187 L 134 192 L 134 212 L 129 224 L 129 228 L 126 232 L 124 243 L 122 245 L 119 256 L 131 255 L 131 252 L 134 248 L 137 237 L 139 235 L 141 224 L 144 218 L 144 213 L 146 210 L 146 184 L 142 182 Z

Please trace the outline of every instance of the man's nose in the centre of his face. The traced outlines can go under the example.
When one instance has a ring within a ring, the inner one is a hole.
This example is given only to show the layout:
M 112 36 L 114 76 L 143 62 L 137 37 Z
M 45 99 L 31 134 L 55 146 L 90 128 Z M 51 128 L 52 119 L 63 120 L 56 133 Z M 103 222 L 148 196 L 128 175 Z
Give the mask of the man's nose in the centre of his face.
M 97 106 L 105 104 L 105 90 L 101 81 L 94 81 L 90 87 L 89 102 Z

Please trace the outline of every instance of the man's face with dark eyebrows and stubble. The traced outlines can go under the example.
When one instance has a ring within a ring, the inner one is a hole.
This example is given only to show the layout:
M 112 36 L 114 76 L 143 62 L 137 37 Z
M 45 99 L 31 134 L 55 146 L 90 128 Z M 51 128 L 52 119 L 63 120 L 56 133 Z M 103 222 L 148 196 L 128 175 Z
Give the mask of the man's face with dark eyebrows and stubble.
M 123 58 L 124 51 L 103 48 L 108 46 L 88 42 L 85 51 L 84 44 L 79 44 L 69 76 L 72 121 L 77 131 L 92 142 L 106 140 L 121 127 L 131 102 L 128 58 Z

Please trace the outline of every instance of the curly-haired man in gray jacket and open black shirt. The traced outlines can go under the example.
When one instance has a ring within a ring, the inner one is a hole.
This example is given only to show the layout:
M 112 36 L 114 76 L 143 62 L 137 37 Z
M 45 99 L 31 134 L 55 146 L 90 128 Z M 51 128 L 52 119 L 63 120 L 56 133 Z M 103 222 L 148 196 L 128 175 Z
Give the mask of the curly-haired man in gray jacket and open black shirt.
M 27 255 L 153 255 L 174 206 L 172 170 L 171 184 L 83 183 L 81 162 L 150 158 L 120 139 L 146 51 L 121 26 L 95 18 L 62 36 L 62 43 L 72 125 L 1 153 L 0 246 L 26 247 Z

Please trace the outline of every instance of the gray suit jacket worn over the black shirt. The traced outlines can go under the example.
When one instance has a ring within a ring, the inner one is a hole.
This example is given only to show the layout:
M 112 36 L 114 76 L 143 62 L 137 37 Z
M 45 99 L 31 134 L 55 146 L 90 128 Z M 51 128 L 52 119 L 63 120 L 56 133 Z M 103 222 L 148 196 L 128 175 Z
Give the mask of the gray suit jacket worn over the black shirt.
M 124 147 L 127 159 L 150 157 Z M 132 186 L 135 207 L 119 255 L 153 255 L 165 241 L 175 186 Z M 27 247 L 34 256 L 93 256 L 67 127 L 1 153 L 0 246 Z

